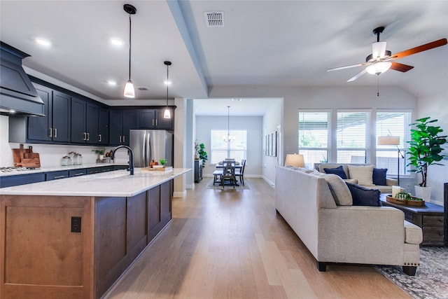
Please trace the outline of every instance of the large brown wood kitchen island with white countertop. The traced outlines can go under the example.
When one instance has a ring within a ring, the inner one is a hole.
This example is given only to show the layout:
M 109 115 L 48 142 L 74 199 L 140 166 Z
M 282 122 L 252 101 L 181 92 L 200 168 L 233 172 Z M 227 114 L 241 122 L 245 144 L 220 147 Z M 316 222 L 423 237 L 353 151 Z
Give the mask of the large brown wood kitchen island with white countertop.
M 0 298 L 100 298 L 171 221 L 173 179 L 135 169 L 0 189 Z

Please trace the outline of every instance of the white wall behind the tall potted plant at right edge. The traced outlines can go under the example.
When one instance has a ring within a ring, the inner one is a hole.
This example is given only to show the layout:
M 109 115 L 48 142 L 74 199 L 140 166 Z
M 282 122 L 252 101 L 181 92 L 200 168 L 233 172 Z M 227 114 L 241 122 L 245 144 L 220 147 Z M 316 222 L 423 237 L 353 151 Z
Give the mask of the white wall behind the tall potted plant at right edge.
M 439 125 L 443 132 L 448 135 L 448 90 L 444 94 L 419 97 L 417 118 L 431 118 L 439 120 Z M 444 155 L 448 155 L 448 144 L 444 145 Z M 443 183 L 448 181 L 448 157 L 441 161 L 444 166 L 431 165 L 428 168 L 427 186 L 432 188 L 431 202 L 443 205 Z M 418 174 L 420 176 L 420 174 Z M 421 181 L 417 177 L 417 183 Z

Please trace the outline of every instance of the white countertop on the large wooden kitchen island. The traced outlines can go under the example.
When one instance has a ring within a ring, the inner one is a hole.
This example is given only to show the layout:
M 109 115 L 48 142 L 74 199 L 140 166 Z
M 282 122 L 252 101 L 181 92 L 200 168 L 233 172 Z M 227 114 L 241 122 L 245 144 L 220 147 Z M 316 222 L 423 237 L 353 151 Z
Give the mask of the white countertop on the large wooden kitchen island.
M 0 195 L 130 197 L 174 179 L 190 170 L 188 168 L 174 168 L 171 171 L 162 172 L 141 171 L 141 168 L 136 168 L 133 176 L 126 170 L 116 170 L 69 179 L 0 188 Z

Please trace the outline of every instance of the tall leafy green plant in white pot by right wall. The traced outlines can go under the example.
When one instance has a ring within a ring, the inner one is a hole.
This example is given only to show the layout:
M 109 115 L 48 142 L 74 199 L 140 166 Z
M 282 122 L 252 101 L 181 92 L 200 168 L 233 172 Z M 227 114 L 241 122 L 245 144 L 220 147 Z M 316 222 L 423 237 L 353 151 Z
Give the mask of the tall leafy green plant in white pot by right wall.
M 415 121 L 416 123 L 411 124 L 415 125 L 415 129 L 411 129 L 411 141 L 407 141 L 409 144 L 407 151 L 409 163 L 407 163 L 407 166 L 414 167 L 410 170 L 411 172 L 421 174 L 421 183 L 419 183 L 419 186 L 415 186 L 416 196 L 429 200 L 430 188 L 426 186 L 428 167 L 430 165 L 443 165 L 438 162 L 445 156 L 442 155 L 442 145 L 447 143 L 447 136 L 440 135 L 443 132 L 440 127 L 431 125 L 437 122 L 436 119 L 431 120 L 430 117 L 426 117 Z M 419 187 L 429 189 L 423 191 Z M 422 195 L 421 191 L 426 194 Z

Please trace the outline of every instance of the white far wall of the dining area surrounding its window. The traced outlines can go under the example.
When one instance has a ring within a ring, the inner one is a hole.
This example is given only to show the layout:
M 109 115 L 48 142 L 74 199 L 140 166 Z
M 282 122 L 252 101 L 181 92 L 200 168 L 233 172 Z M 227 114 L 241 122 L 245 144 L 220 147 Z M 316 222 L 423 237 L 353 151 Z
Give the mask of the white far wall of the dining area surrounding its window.
M 212 176 L 216 170 L 210 165 L 210 130 L 227 130 L 227 116 L 196 116 L 196 139 L 205 145 L 209 160 L 203 169 L 204 176 Z M 230 116 L 230 130 L 247 130 L 247 162 L 244 169 L 246 177 L 262 176 L 262 117 Z

